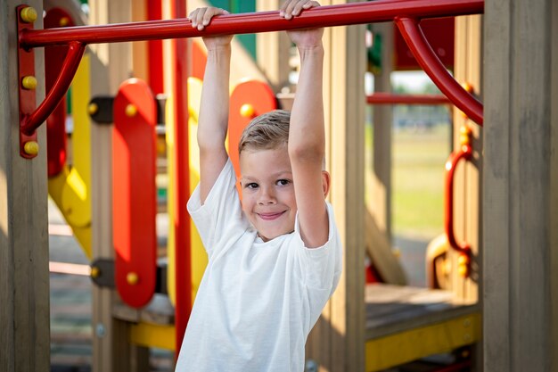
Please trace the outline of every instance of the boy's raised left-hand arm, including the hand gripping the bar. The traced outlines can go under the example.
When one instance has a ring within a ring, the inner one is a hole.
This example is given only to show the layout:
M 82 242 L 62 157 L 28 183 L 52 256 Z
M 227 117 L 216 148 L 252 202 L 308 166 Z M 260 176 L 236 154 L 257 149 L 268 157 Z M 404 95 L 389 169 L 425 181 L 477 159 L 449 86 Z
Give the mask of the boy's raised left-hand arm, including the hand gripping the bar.
M 202 30 L 209 25 L 213 16 L 227 13 L 219 8 L 199 8 L 191 12 L 188 18 L 194 28 Z M 201 88 L 197 136 L 200 147 L 202 204 L 227 160 L 225 140 L 228 128 L 231 39 L 232 36 L 203 37 L 208 49 L 208 60 Z

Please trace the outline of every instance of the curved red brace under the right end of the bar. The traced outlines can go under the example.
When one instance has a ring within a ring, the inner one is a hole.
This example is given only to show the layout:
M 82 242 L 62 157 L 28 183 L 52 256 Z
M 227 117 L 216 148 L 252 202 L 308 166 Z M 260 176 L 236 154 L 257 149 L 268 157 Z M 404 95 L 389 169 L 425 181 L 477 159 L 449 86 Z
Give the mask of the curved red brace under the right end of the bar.
M 461 111 L 482 126 L 483 107 L 475 97 L 467 92 L 464 87 L 455 81 L 454 77 L 447 72 L 446 68 L 439 61 L 438 56 L 434 53 L 431 45 L 428 44 L 424 37 L 418 21 L 414 18 L 397 17 L 395 23 L 398 26 L 401 35 L 409 46 L 409 49 L 419 62 L 423 70 L 431 77 L 434 84 L 439 87 L 451 102 L 455 103 Z

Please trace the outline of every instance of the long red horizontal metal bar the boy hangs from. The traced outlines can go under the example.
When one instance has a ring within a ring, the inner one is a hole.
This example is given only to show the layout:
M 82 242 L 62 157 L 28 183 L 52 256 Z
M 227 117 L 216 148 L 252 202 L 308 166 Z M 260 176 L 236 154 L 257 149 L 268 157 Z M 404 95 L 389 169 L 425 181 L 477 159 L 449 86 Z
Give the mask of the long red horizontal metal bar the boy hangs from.
M 32 48 L 68 44 L 72 41 L 83 44 L 98 44 L 161 38 L 246 34 L 392 21 L 396 17 L 420 19 L 482 12 L 484 12 L 483 0 L 378 0 L 366 3 L 321 6 L 303 12 L 299 17 L 290 21 L 280 18 L 279 12 L 276 11 L 222 15 L 211 21 L 212 26 L 203 31 L 193 29 L 191 22 L 185 18 L 64 29 L 23 29 L 20 33 L 20 45 Z

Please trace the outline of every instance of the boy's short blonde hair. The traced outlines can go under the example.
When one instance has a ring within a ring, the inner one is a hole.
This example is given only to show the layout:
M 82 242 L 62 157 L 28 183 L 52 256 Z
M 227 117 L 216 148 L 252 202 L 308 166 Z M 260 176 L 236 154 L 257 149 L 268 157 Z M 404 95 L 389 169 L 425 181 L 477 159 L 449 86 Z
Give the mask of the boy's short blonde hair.
M 271 150 L 289 143 L 291 112 L 274 110 L 254 118 L 242 131 L 238 153 L 244 150 Z

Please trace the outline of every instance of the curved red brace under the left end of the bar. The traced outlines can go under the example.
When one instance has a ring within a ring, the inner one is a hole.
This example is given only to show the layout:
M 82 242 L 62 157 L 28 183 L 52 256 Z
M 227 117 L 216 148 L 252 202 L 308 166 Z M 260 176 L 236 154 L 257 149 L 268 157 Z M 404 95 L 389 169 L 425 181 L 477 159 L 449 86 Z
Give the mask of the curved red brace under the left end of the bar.
M 70 87 L 71 80 L 74 79 L 85 50 L 86 45 L 77 41 L 73 41 L 68 45 L 68 55 L 62 64 L 61 74 L 54 82 L 52 89 L 45 95 L 45 101 L 37 107 L 37 110 L 23 118 L 21 123 L 21 132 L 23 134 L 31 135 L 60 103 L 63 95 L 66 94 L 68 87 Z

